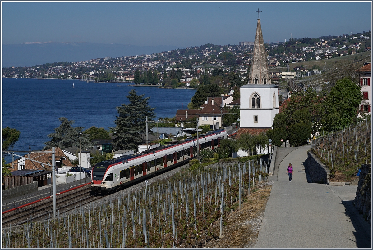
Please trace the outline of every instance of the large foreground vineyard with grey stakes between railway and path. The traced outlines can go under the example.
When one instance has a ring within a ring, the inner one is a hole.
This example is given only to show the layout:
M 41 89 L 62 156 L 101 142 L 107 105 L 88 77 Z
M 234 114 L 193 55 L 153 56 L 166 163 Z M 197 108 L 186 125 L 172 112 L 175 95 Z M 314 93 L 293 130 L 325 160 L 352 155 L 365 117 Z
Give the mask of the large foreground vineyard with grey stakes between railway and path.
M 79 206 L 3 228 L 5 248 L 197 247 L 198 239 L 223 234 L 225 218 L 241 209 L 267 179 L 267 164 L 254 156 L 217 169 L 183 169 L 172 177 L 117 199 Z M 213 222 L 220 223 L 220 232 Z M 204 240 L 204 241 L 205 241 Z

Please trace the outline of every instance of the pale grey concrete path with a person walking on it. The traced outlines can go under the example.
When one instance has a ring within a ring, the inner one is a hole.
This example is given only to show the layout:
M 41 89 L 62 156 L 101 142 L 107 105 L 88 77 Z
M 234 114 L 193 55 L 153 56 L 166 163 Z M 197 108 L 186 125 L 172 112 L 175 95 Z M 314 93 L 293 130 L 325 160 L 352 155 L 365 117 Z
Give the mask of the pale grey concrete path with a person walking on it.
M 370 227 L 352 206 L 357 186 L 308 183 L 304 164 L 310 148 L 289 152 L 279 164 L 255 248 L 370 248 Z M 291 182 L 289 163 L 295 171 Z

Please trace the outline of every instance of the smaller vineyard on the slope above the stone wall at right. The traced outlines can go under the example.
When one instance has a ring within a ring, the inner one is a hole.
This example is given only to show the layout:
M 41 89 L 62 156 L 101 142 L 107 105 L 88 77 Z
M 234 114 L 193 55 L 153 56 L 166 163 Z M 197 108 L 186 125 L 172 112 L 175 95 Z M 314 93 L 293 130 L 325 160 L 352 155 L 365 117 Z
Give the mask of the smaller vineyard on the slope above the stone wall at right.
M 332 176 L 338 171 L 346 178 L 354 176 L 361 164 L 370 163 L 371 121 L 360 120 L 335 129 L 314 142 L 314 153 L 327 167 Z

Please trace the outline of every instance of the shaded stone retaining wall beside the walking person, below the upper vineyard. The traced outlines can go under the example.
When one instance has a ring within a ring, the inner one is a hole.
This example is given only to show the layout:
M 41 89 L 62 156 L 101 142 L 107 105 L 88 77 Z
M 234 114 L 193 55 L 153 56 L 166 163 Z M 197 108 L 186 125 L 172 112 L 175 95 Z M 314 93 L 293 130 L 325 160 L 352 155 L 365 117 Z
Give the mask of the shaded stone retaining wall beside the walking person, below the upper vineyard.
M 313 153 L 307 152 L 307 167 L 308 172 L 313 183 L 328 183 L 330 178 L 329 167 L 325 166 Z

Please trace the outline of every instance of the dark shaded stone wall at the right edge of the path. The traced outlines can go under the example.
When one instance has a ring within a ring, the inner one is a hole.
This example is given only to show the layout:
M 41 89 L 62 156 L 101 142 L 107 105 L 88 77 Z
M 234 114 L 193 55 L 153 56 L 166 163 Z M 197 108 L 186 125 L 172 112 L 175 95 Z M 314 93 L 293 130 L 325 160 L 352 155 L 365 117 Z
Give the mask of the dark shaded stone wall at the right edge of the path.
M 355 207 L 363 212 L 364 219 L 370 224 L 370 164 L 362 164 L 361 172 L 359 176 L 359 182 L 357 184 Z

